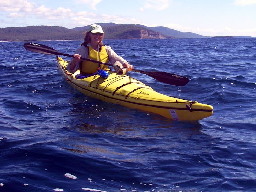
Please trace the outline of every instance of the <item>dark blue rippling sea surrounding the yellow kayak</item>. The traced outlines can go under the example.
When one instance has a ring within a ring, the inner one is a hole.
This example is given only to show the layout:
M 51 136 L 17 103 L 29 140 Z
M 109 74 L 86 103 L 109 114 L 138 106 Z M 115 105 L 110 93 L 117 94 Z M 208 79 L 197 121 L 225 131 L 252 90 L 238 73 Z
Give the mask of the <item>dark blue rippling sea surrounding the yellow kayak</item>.
M 24 43 L 0 43 L 1 192 L 256 190 L 256 39 L 104 41 L 135 69 L 188 77 L 178 87 L 129 73 L 160 93 L 212 105 L 198 122 L 87 97 L 54 55 Z M 73 54 L 82 42 L 38 43 Z

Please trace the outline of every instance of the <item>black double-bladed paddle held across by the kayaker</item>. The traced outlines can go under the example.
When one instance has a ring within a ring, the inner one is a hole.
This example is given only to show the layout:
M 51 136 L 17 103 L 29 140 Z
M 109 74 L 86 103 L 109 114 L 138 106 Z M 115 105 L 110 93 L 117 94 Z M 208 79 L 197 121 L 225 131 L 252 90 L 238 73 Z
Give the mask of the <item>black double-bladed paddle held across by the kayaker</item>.
M 46 45 L 42 45 L 39 43 L 24 43 L 24 48 L 26 50 L 29 50 L 32 52 L 43 53 L 43 54 L 47 54 L 47 55 L 63 55 L 63 56 L 67 56 L 67 57 L 74 57 L 73 55 L 69 55 L 66 53 L 60 53 L 51 47 L 48 47 Z M 101 61 L 96 61 L 96 60 L 92 60 L 89 58 L 83 58 L 83 57 L 81 57 L 81 59 L 113 67 L 113 64 L 110 64 L 110 63 L 104 63 Z M 170 85 L 184 86 L 189 82 L 189 79 L 187 77 L 183 77 L 180 75 L 171 74 L 171 73 L 167 73 L 167 72 L 159 72 L 159 71 L 149 72 L 149 71 L 141 71 L 141 70 L 137 70 L 137 69 L 133 69 L 132 71 L 146 74 L 160 82 L 170 84 Z

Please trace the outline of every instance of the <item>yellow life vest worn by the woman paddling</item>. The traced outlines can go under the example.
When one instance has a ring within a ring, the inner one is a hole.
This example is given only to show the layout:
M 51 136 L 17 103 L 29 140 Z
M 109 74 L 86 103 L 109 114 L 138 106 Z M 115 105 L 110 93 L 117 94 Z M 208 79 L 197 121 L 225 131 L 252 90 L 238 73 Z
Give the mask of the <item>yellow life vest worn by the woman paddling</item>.
M 96 61 L 108 63 L 108 54 L 105 46 L 102 46 L 99 51 L 94 50 L 91 46 L 88 47 L 88 58 Z M 98 69 L 108 69 L 108 65 L 97 64 L 91 61 L 83 61 L 80 67 L 81 73 L 95 73 Z

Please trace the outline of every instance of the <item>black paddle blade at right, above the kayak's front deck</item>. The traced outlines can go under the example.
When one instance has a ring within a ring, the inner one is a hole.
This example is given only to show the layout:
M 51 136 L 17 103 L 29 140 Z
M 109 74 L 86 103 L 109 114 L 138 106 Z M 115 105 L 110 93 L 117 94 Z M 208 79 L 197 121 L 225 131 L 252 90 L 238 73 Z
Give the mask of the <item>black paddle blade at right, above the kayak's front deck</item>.
M 183 77 L 180 75 L 171 74 L 167 72 L 160 72 L 160 71 L 150 72 L 150 71 L 140 71 L 135 69 L 133 71 L 146 74 L 160 82 L 170 84 L 170 85 L 185 86 L 189 82 L 189 79 L 187 77 Z

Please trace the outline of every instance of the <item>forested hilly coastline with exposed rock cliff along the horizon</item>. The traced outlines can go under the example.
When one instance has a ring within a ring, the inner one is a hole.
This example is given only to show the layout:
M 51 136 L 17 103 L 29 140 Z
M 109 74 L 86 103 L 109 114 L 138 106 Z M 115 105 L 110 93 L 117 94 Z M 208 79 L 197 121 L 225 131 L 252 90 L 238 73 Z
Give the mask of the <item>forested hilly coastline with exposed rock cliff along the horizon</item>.
M 165 39 L 210 38 L 191 32 L 180 32 L 167 27 L 98 23 L 103 27 L 104 39 Z M 81 40 L 90 25 L 68 29 L 59 26 L 28 26 L 0 28 L 0 41 Z M 243 38 L 241 36 L 237 38 Z M 244 38 L 250 38 L 244 36 Z

